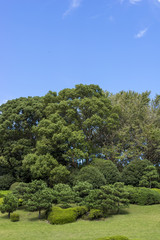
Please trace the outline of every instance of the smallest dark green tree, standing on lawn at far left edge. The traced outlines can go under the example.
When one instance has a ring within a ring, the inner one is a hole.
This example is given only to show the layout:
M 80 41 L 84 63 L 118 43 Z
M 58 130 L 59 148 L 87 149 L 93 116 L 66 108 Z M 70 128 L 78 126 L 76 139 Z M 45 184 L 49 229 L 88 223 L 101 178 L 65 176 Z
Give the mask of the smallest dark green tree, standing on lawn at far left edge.
M 18 198 L 16 198 L 12 193 L 7 194 L 3 199 L 3 204 L 0 206 L 1 213 L 8 213 L 8 217 L 10 218 L 10 214 L 14 212 L 18 207 Z

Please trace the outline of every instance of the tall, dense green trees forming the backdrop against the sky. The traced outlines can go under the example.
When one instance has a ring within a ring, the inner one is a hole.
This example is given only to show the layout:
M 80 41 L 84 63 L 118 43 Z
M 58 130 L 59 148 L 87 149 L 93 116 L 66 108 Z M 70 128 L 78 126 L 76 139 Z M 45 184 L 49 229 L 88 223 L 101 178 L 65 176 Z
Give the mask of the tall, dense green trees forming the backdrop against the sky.
M 90 175 L 99 174 L 94 169 L 103 173 L 103 182 L 108 177 L 103 164 L 110 166 L 108 174 L 116 169 L 109 183 L 142 169 L 136 182 L 128 178 L 126 184 L 151 187 L 158 181 L 160 95 L 111 94 L 98 85 L 79 84 L 0 106 L 0 185 L 34 179 L 49 186 L 72 184 L 83 180 L 86 168 Z

